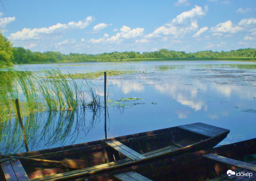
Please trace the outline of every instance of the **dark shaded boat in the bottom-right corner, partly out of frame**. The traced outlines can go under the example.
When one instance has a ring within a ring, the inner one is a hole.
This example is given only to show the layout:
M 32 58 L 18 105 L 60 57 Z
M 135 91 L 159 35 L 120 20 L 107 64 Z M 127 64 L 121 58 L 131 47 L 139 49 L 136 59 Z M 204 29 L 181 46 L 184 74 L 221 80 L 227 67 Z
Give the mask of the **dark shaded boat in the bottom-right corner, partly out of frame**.
M 256 138 L 76 181 L 253 181 L 256 180 Z

